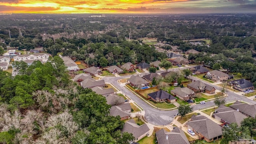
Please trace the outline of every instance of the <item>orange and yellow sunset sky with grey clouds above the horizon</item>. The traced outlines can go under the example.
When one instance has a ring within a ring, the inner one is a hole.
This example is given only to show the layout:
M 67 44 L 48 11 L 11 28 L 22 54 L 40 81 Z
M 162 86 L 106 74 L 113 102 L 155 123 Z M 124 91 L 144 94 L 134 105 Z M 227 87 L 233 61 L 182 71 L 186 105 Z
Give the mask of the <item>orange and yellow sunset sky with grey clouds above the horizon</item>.
M 0 0 L 0 13 L 256 12 L 256 0 Z

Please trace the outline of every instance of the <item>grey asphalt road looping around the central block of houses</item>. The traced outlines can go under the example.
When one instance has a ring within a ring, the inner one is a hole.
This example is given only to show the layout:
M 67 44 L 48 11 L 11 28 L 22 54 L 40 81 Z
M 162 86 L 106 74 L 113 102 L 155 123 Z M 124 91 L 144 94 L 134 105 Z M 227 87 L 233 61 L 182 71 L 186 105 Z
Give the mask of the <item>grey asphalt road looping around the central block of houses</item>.
M 181 67 L 181 68 L 174 68 L 174 69 L 170 69 L 168 71 L 176 71 L 178 69 L 186 69 L 186 68 L 190 68 L 190 67 Z M 162 73 L 165 71 L 158 71 L 157 73 Z M 143 73 L 143 74 L 139 74 L 140 76 L 145 75 L 148 73 Z M 149 106 L 146 102 L 144 102 L 144 100 L 140 99 L 138 96 L 136 96 L 135 94 L 133 94 L 130 90 L 128 90 L 127 88 L 125 88 L 124 86 L 122 86 L 122 84 L 118 83 L 117 81 L 123 78 L 130 78 L 131 75 L 129 76 L 120 76 L 120 77 L 104 77 L 102 78 L 103 80 L 105 80 L 105 82 L 111 83 L 113 84 L 116 88 L 118 88 L 122 93 L 124 93 L 126 96 L 128 96 L 129 98 L 131 98 L 134 102 L 136 102 L 136 104 L 138 104 L 141 108 L 143 108 L 145 110 L 145 120 L 147 122 L 149 122 L 150 124 L 154 124 L 154 125 L 158 125 L 158 126 L 163 126 L 163 125 L 168 125 L 173 121 L 173 118 L 175 117 L 174 114 L 178 113 L 178 110 L 158 110 L 156 108 L 153 108 L 151 106 Z M 191 76 L 191 78 L 193 80 L 199 80 L 196 77 Z M 208 83 L 209 84 L 209 83 Z M 212 84 L 209 84 L 211 86 L 214 86 Z M 221 90 L 222 88 L 218 87 L 218 86 L 214 86 L 217 90 Z M 240 96 L 238 94 L 235 94 L 233 92 L 230 92 L 228 90 L 226 90 L 225 92 L 226 94 L 228 94 L 228 97 L 226 98 L 226 102 L 232 101 L 232 100 L 243 100 L 245 102 L 249 102 L 252 104 L 256 104 L 255 101 L 250 100 L 244 96 Z M 214 106 L 214 100 L 208 101 L 205 104 L 196 104 L 194 106 L 191 106 L 193 108 L 193 110 L 199 110 L 199 109 L 203 109 L 203 108 L 208 108 L 210 106 Z

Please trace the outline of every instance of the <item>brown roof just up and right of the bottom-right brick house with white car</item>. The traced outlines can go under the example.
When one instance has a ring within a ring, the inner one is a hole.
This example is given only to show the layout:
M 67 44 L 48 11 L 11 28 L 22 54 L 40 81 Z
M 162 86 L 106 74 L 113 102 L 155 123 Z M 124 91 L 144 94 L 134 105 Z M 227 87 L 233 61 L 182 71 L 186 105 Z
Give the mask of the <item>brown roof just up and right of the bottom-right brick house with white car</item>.
M 231 110 L 227 112 L 218 112 L 214 114 L 215 116 L 218 116 L 222 120 L 228 122 L 229 124 L 235 122 L 238 126 L 241 126 L 241 122 L 244 120 L 244 118 L 247 118 L 244 114 L 241 112 L 238 112 L 237 110 Z

